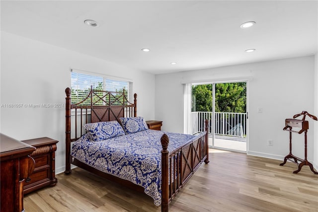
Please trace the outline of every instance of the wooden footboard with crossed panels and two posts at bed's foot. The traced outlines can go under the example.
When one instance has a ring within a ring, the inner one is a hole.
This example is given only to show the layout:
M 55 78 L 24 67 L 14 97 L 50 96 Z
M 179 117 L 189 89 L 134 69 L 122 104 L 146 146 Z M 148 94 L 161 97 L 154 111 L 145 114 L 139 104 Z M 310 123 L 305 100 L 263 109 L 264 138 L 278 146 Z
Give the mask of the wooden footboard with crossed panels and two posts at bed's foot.
M 161 137 L 161 212 L 169 210 L 171 200 L 201 163 L 209 163 L 208 138 L 208 120 L 205 120 L 204 133 L 170 153 L 168 136 Z

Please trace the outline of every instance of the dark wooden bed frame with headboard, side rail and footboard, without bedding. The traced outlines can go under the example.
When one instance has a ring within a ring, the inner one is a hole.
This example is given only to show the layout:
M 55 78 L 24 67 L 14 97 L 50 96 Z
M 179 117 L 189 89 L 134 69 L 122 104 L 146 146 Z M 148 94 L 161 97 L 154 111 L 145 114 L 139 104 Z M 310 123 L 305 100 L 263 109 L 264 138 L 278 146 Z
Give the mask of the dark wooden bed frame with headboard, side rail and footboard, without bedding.
M 144 193 L 144 188 L 134 183 L 101 172 L 71 156 L 71 143 L 78 140 L 86 132 L 82 126 L 89 122 L 117 120 L 120 117 L 137 116 L 137 94 L 134 95 L 134 104 L 125 97 L 125 91 L 107 92 L 94 91 L 91 89 L 87 97 L 76 104 L 71 104 L 71 89 L 67 88 L 66 93 L 66 168 L 65 174 L 71 174 L 71 164 L 94 173 L 103 178 L 109 179 L 135 191 Z M 87 104 L 87 102 L 89 102 Z M 86 103 L 86 105 L 84 104 Z M 90 113 L 90 115 L 89 115 Z M 73 116 L 73 117 L 72 117 Z M 72 122 L 72 127 L 71 127 Z M 75 124 L 74 124 L 75 123 Z M 71 134 L 71 128 L 72 133 Z M 163 134 L 160 142 L 161 150 L 161 212 L 169 210 L 169 203 L 189 180 L 193 173 L 204 161 L 209 163 L 208 146 L 208 120 L 205 120 L 205 132 L 195 140 L 192 140 L 182 147 L 168 152 L 169 138 Z M 72 137 L 72 138 L 71 138 Z M 158 141 L 159 142 L 159 141 Z M 168 170 L 169 169 L 169 170 Z M 172 182 L 172 183 L 169 183 Z

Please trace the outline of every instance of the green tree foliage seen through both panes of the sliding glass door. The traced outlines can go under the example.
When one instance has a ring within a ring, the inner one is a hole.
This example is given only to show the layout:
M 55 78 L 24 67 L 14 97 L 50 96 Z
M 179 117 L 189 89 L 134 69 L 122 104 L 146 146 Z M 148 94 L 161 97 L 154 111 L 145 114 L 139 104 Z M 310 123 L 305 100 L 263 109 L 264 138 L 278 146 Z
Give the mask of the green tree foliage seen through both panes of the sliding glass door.
M 193 111 L 212 111 L 212 85 L 192 86 Z M 194 110 L 195 108 L 195 110 Z M 220 83 L 215 85 L 216 112 L 245 112 L 246 83 Z

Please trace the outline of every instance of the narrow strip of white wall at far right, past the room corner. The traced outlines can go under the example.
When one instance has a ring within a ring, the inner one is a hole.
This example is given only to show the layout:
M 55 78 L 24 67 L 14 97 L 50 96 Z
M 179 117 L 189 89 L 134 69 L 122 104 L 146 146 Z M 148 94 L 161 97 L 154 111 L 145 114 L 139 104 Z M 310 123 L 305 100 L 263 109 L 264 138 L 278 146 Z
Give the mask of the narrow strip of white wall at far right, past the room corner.
M 314 93 L 314 114 L 318 117 L 318 53 L 315 55 L 315 93 Z M 314 127 L 314 167 L 318 170 L 318 121 L 315 121 Z

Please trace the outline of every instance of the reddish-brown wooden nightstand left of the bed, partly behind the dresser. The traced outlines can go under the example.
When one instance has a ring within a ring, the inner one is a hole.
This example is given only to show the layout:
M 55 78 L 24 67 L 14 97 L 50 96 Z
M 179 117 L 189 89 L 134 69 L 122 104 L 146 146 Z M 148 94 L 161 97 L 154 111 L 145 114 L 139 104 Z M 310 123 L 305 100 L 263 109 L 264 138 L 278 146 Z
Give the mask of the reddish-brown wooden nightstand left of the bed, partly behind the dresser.
M 22 141 L 36 150 L 30 155 L 35 161 L 32 174 L 24 181 L 23 192 L 27 194 L 45 186 L 55 186 L 55 151 L 57 140 L 43 137 Z

